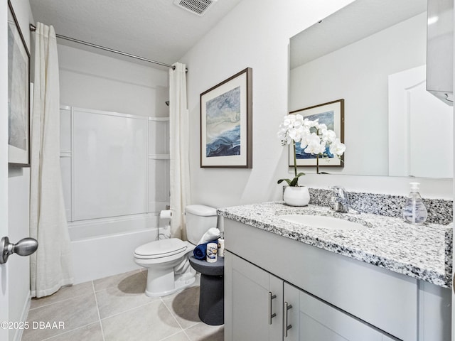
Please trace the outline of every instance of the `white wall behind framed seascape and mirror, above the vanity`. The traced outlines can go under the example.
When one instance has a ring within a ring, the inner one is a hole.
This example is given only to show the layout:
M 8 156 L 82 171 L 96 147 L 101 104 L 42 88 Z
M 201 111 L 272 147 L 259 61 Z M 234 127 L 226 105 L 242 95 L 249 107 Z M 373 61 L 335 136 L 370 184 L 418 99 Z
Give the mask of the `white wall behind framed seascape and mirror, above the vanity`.
M 287 148 L 277 128 L 287 113 L 289 38 L 350 0 L 243 0 L 183 58 L 188 67 L 192 201 L 222 207 L 279 200 L 279 178 L 289 175 Z M 253 69 L 253 168 L 200 168 L 200 93 Z M 451 180 L 419 179 L 424 197 L 451 198 Z M 306 175 L 301 184 L 407 195 L 408 178 Z

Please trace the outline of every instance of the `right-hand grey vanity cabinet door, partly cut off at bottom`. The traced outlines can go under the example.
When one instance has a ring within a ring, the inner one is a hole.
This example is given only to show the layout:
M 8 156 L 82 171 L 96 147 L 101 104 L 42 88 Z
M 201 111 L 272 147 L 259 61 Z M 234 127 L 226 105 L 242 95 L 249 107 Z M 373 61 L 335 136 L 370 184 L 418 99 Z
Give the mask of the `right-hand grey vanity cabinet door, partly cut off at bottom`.
M 344 313 L 318 298 L 284 283 L 285 341 L 386 341 L 393 340 L 375 328 Z

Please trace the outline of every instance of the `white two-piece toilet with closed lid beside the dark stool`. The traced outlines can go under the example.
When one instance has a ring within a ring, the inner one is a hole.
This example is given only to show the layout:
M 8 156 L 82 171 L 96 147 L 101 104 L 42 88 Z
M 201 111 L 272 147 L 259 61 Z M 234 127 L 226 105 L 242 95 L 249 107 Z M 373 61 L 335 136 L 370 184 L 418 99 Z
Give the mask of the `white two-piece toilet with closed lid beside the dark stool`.
M 134 250 L 134 261 L 147 271 L 146 296 L 158 297 L 191 286 L 196 271 L 189 265 L 188 254 L 210 227 L 217 226 L 216 209 L 205 205 L 185 207 L 188 242 L 178 238 L 160 239 L 141 245 Z M 186 264 L 184 264 L 186 262 Z M 177 274 L 174 268 L 184 264 L 187 271 Z

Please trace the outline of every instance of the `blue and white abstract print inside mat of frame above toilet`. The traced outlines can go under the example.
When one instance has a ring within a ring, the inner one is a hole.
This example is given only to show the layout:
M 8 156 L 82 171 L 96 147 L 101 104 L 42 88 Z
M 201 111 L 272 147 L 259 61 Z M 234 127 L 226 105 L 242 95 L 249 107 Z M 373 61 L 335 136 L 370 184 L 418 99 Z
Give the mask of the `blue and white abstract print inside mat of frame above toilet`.
M 240 155 L 240 87 L 205 103 L 205 156 Z

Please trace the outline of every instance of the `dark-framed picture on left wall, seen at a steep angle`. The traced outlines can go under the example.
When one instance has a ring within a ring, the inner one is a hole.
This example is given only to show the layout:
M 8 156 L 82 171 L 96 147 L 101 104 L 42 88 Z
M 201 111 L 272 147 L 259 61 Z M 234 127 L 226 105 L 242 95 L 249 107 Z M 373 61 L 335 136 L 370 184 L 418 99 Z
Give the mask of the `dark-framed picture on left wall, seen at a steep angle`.
M 8 0 L 8 164 L 30 166 L 30 53 Z

